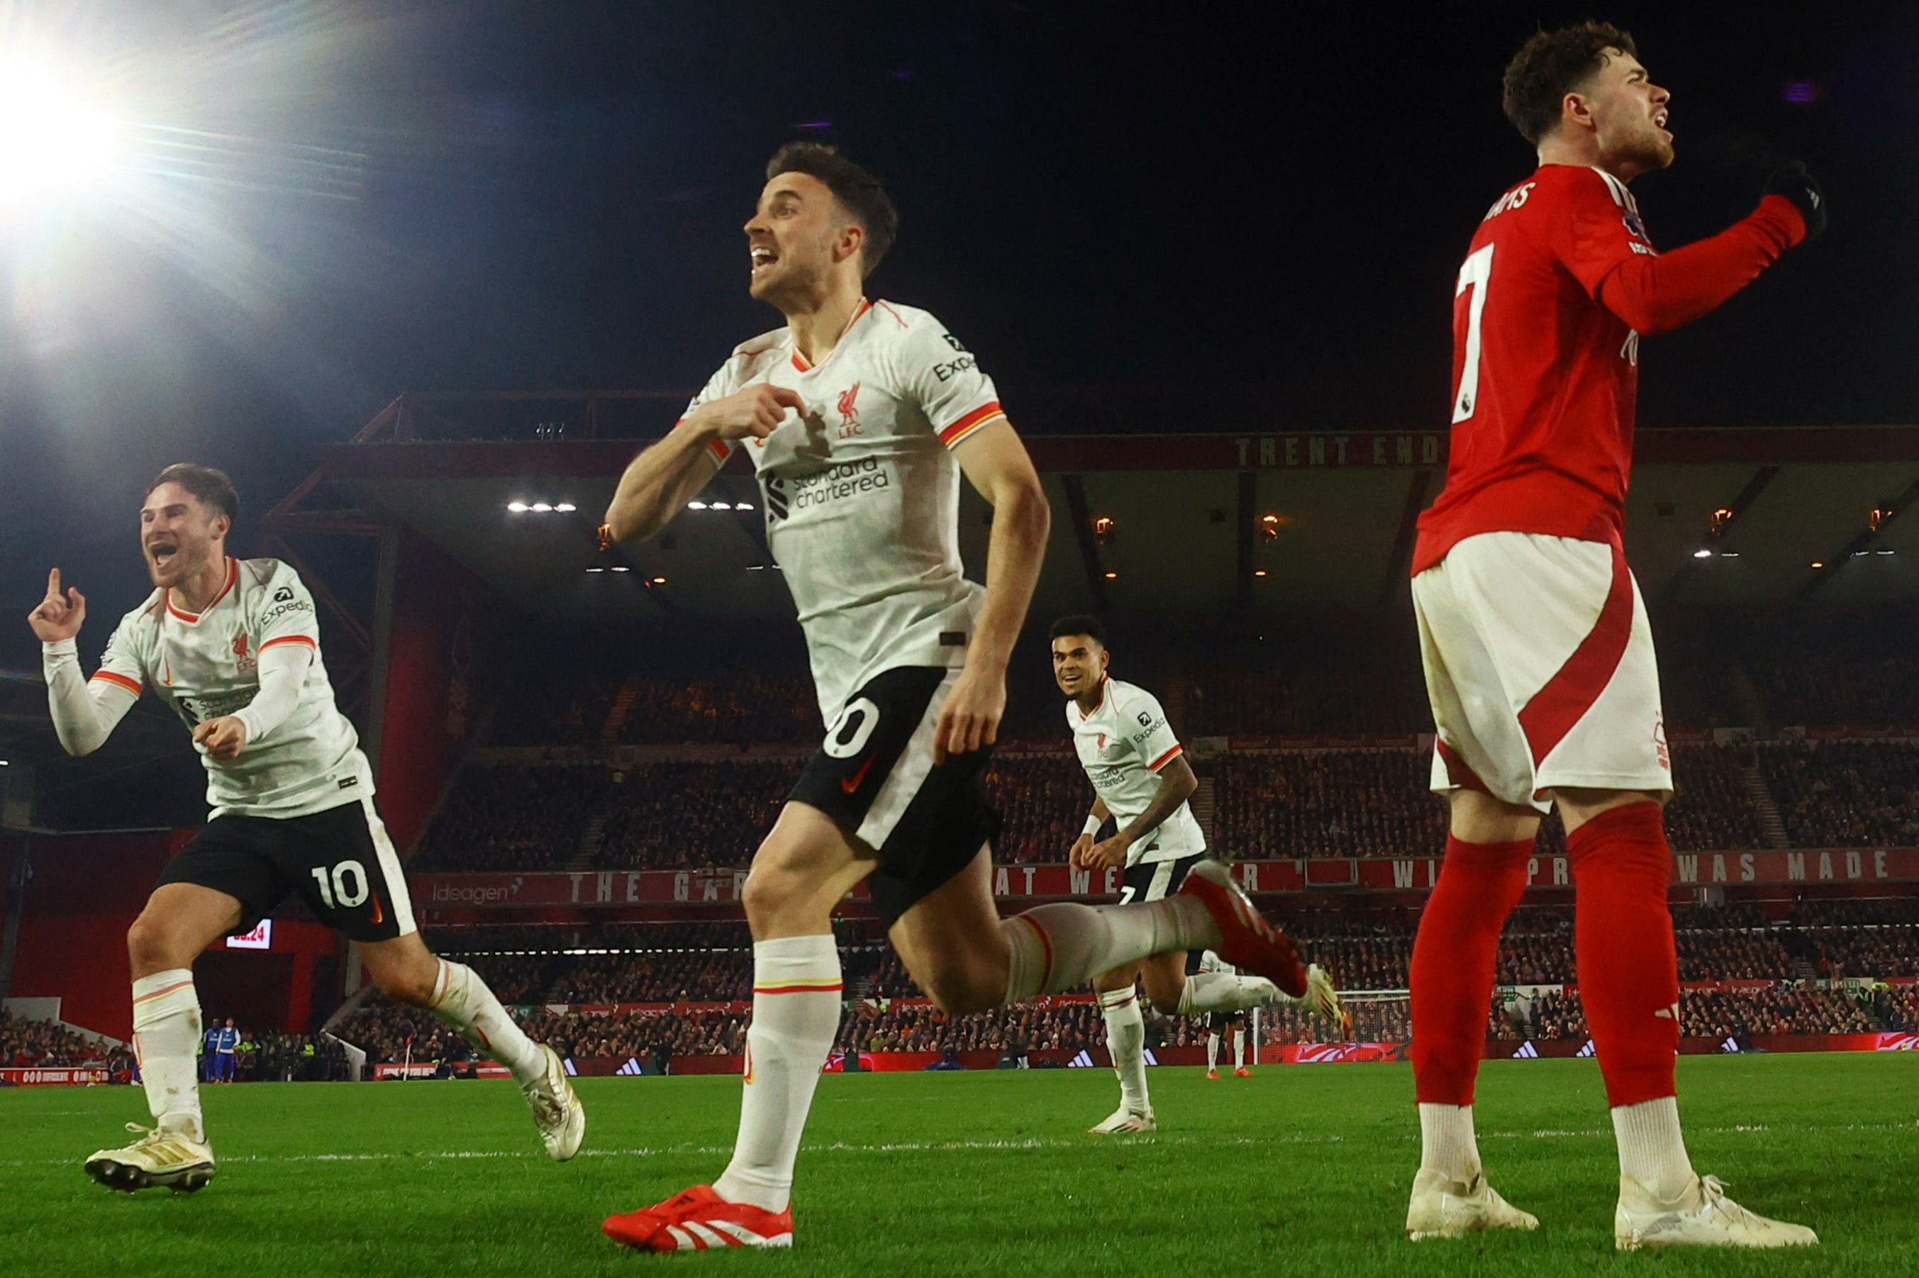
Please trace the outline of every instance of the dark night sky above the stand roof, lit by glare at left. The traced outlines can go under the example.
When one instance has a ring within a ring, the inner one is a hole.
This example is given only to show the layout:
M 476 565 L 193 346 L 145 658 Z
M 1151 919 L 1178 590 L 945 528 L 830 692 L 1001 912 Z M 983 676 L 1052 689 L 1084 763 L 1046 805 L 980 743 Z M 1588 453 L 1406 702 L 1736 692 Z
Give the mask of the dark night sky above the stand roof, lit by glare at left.
M 1643 424 L 1919 420 L 1919 6 L 1420 8 L 40 6 L 8 38 L 106 79 L 161 173 L 0 225 L 0 614 L 52 562 L 90 627 L 129 608 L 169 461 L 263 510 L 403 390 L 699 386 L 779 322 L 739 226 L 791 136 L 888 180 L 869 294 L 940 315 L 1015 424 L 1090 386 L 1207 405 L 1128 428 L 1443 426 L 1458 257 L 1533 163 L 1501 67 L 1591 13 L 1673 90 L 1658 244 L 1783 157 L 1833 207 L 1647 347 Z

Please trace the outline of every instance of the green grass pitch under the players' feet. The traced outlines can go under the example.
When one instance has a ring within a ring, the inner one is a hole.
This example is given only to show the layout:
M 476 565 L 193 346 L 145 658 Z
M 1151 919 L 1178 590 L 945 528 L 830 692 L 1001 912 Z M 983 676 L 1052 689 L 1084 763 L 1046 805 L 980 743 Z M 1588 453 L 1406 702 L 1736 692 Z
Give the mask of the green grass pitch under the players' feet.
M 1100 1138 L 1113 1075 L 829 1075 L 791 1253 L 643 1257 L 608 1211 L 710 1180 L 737 1078 L 589 1078 L 587 1149 L 537 1153 L 505 1082 L 244 1084 L 207 1096 L 217 1180 L 113 1194 L 81 1159 L 144 1119 L 132 1088 L 0 1092 L 6 1274 L 1911 1274 L 1919 1057 L 1687 1057 L 1693 1159 L 1750 1207 L 1812 1224 L 1812 1253 L 1614 1255 L 1616 1163 L 1591 1061 L 1481 1075 L 1480 1148 L 1537 1234 L 1412 1245 L 1405 1065 L 1149 1071 L 1157 1136 Z

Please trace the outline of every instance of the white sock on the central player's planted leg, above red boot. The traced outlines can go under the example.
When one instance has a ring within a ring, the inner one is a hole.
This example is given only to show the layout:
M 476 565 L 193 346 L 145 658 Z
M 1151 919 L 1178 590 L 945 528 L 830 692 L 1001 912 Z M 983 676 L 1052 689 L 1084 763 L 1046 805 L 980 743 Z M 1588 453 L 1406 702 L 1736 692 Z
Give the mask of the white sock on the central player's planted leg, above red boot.
M 819 1069 L 839 1032 L 841 971 L 833 936 L 781 936 L 752 946 L 752 1025 L 739 1140 L 714 1192 L 729 1203 L 785 1211 L 793 1161 Z

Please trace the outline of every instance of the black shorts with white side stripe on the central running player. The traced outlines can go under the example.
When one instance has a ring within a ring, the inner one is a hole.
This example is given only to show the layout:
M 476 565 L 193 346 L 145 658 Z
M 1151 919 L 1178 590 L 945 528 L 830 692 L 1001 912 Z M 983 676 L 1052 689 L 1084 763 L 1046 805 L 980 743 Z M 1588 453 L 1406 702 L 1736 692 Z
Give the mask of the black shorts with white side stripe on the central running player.
M 873 675 L 846 698 L 787 796 L 879 852 L 867 887 L 887 927 L 1000 837 L 1000 814 L 986 798 L 992 748 L 933 766 L 933 729 L 958 677 L 944 666 Z

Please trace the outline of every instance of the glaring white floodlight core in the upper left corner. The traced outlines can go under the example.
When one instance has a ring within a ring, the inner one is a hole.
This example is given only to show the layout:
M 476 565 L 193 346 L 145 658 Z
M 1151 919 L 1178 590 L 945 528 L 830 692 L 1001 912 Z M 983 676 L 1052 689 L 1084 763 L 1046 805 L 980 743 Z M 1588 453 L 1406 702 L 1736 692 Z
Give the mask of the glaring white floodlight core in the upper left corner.
M 56 67 L 0 54 L 0 207 L 88 186 L 119 155 L 119 125 L 81 102 Z

